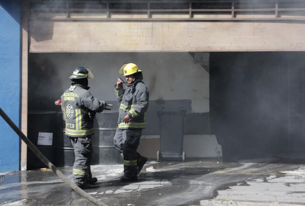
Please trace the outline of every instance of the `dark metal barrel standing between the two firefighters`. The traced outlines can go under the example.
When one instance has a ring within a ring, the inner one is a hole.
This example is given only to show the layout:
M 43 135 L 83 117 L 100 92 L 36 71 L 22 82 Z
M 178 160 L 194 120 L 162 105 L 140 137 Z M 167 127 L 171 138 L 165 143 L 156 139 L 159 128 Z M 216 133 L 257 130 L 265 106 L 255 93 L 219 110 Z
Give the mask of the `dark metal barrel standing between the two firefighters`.
M 119 112 L 96 113 L 94 135 L 92 136 L 92 163 L 122 164 L 122 156 L 113 145 L 113 137 L 118 127 Z

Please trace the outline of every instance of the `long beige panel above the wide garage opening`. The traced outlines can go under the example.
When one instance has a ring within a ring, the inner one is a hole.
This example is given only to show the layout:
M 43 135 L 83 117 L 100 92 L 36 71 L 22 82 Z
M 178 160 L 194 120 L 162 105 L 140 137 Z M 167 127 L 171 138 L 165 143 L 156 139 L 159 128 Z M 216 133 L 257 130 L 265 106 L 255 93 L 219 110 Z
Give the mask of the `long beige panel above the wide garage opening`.
M 305 51 L 296 22 L 30 20 L 30 52 Z

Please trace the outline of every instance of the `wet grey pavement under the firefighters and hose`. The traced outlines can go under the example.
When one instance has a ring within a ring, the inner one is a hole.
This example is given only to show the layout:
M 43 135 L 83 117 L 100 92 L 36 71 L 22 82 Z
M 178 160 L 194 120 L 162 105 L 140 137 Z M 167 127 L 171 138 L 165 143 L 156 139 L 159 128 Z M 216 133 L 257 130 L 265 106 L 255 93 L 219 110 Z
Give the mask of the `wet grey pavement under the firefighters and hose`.
M 59 168 L 70 177 L 71 167 Z M 136 182 L 120 182 L 122 165 L 93 165 L 85 191 L 110 206 L 305 205 L 305 165 L 278 161 L 148 162 Z M 3 175 L 3 174 L 2 174 Z M 0 205 L 92 205 L 49 169 L 4 174 Z

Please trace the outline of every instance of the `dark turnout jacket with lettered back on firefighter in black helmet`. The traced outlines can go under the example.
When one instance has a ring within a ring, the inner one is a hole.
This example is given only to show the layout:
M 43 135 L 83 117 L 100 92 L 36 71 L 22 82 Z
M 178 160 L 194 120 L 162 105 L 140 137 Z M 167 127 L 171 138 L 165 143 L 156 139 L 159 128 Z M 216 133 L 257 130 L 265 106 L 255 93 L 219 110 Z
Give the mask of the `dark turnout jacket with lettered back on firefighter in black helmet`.
M 65 134 L 72 137 L 85 137 L 94 134 L 93 118 L 102 112 L 106 103 L 94 98 L 90 87 L 72 84 L 61 95 L 61 110 L 65 119 Z

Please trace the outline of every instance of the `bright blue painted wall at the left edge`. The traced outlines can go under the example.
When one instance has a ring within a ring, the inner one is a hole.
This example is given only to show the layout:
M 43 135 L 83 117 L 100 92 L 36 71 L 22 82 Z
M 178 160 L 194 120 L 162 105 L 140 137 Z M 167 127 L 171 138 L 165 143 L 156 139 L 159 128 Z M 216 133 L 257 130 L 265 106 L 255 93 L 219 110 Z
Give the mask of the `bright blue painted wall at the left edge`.
M 21 1 L 0 0 L 0 107 L 20 127 Z M 19 170 L 20 140 L 0 117 L 0 172 Z

